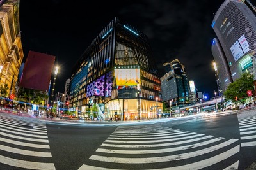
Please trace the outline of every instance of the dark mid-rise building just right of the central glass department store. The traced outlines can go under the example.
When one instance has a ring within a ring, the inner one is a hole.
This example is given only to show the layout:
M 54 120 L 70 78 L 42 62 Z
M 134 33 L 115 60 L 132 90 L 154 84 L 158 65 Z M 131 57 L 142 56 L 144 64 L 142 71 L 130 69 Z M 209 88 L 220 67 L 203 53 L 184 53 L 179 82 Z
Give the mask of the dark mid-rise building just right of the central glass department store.
M 178 59 L 163 64 L 166 74 L 161 77 L 163 102 L 171 106 L 184 106 L 191 104 L 189 101 L 189 81 L 185 66 Z

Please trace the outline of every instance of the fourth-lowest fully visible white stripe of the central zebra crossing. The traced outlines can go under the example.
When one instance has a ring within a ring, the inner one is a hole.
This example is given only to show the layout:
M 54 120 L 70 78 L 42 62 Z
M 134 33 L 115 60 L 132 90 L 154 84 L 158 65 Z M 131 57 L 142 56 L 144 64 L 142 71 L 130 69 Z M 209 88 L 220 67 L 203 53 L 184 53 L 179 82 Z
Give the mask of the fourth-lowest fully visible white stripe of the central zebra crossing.
M 175 138 L 175 139 L 150 140 L 150 141 L 119 141 L 119 140 L 106 139 L 105 142 L 109 142 L 109 143 L 157 143 L 157 142 L 178 141 L 178 140 L 182 140 L 182 139 L 196 138 L 198 136 L 203 136 L 203 135 L 205 135 L 205 134 L 196 134 L 193 136 L 186 136 L 186 137 Z

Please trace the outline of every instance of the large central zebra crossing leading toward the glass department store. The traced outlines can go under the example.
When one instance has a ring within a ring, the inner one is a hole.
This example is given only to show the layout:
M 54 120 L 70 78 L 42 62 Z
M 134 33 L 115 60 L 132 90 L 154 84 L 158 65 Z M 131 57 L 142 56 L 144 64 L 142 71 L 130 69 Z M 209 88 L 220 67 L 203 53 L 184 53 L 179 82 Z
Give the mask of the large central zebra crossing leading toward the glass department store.
M 119 126 L 79 170 L 238 169 L 239 150 L 238 139 L 157 124 Z

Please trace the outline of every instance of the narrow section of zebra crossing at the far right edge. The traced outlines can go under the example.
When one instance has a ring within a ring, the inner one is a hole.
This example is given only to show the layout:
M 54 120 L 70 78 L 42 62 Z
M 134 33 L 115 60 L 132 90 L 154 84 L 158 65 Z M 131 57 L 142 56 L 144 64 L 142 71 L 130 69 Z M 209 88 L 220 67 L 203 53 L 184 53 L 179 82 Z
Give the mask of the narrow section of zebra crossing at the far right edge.
M 256 146 L 256 111 L 249 110 L 237 115 L 241 147 Z

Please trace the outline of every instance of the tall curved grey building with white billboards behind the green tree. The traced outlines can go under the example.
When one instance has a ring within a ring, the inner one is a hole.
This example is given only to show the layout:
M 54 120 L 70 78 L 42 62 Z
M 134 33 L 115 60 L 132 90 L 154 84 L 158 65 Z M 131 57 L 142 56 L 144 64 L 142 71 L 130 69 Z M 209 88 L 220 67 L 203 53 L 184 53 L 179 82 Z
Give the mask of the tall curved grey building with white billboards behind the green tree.
M 256 10 L 250 1 L 226 0 L 214 15 L 212 55 L 223 92 L 241 73 L 256 78 Z

